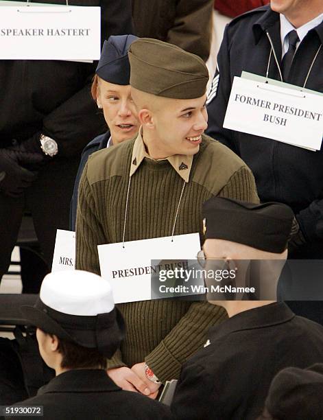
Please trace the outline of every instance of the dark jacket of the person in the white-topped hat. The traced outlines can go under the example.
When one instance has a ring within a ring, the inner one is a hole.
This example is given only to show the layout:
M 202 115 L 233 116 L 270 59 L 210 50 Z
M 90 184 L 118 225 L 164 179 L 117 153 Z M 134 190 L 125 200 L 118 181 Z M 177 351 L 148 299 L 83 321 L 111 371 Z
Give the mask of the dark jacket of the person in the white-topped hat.
M 21 405 L 44 406 L 44 417 L 40 417 L 44 420 L 172 419 L 167 406 L 121 390 L 102 369 L 61 373 L 40 388 L 36 397 L 15 404 Z

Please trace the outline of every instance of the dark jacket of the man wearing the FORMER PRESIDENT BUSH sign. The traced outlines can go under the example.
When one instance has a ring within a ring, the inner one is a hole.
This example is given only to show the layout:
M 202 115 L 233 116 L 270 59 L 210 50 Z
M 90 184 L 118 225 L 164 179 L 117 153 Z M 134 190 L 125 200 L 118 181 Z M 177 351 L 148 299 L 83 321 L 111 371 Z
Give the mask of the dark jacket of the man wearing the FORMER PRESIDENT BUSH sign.
M 270 40 L 280 62 L 279 14 L 270 6 L 253 10 L 234 19 L 224 33 L 217 57 L 217 73 L 213 84 L 216 95 L 208 104 L 207 134 L 234 150 L 252 170 L 262 201 L 279 201 L 289 205 L 300 223 L 307 246 L 291 257 L 323 257 L 323 150 L 311 152 L 272 139 L 224 129 L 223 122 L 232 81 L 242 71 L 280 80 L 274 54 L 270 57 Z M 323 92 L 323 23 L 310 30 L 300 43 L 288 80 L 285 82 L 306 86 Z M 217 84 L 218 81 L 218 84 Z M 217 86 L 217 87 L 216 87 Z M 287 115 L 288 117 L 288 115 Z

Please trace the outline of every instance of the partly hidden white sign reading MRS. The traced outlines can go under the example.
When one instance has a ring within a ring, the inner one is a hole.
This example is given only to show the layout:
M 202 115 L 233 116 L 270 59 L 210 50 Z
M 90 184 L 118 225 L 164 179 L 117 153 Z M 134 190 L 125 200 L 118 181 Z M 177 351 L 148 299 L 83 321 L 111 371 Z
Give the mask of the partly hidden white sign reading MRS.
M 75 268 L 75 232 L 56 232 L 55 249 L 53 253 L 53 265 L 51 271 L 74 270 Z

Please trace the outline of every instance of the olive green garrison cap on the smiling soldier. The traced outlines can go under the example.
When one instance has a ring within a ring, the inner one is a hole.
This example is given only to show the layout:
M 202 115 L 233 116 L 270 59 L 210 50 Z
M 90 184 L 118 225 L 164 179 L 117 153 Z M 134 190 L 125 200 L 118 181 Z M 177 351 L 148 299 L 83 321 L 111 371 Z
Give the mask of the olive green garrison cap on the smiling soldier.
M 152 38 L 135 40 L 128 51 L 130 85 L 174 99 L 195 99 L 206 92 L 208 69 L 202 58 Z

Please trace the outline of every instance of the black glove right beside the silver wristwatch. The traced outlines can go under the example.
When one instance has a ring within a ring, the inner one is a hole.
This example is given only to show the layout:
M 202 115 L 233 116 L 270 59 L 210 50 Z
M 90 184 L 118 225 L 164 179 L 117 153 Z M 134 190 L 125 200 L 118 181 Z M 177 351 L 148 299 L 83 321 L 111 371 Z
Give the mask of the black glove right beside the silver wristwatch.
M 16 154 L 16 159 L 19 165 L 27 166 L 29 169 L 36 169 L 40 164 L 49 161 L 51 157 L 47 156 L 40 148 L 40 132 L 37 132 L 34 136 L 17 143 L 7 150 L 10 150 Z

